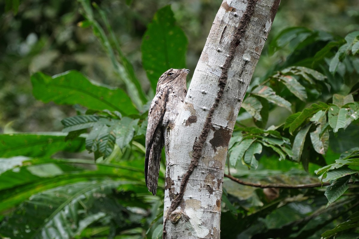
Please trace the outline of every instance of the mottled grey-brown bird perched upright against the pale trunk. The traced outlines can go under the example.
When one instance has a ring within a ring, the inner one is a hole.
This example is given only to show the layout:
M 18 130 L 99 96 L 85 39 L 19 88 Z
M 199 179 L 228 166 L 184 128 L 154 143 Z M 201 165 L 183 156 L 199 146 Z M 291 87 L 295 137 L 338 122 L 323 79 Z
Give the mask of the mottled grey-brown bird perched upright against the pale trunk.
M 159 77 L 156 95 L 148 110 L 145 179 L 148 190 L 156 195 L 165 128 L 173 123 L 187 94 L 188 69 L 169 69 Z

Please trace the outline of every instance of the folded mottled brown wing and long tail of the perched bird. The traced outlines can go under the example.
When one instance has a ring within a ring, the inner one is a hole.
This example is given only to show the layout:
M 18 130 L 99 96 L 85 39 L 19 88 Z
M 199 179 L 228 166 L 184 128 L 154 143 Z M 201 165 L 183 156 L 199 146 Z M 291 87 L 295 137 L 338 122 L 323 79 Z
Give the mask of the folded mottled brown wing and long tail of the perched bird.
M 160 90 L 151 102 L 148 111 L 148 125 L 146 131 L 145 180 L 148 190 L 157 192 L 158 173 L 161 150 L 164 145 L 162 120 L 167 103 L 167 90 Z

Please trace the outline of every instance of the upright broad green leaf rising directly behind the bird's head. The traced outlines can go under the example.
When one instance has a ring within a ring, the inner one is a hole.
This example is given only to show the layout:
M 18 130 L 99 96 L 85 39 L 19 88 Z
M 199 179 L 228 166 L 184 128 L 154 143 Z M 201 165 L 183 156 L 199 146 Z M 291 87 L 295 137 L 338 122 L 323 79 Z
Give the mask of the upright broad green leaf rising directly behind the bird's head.
M 169 68 L 186 66 L 187 38 L 175 23 L 171 6 L 155 13 L 142 38 L 142 63 L 153 90 Z

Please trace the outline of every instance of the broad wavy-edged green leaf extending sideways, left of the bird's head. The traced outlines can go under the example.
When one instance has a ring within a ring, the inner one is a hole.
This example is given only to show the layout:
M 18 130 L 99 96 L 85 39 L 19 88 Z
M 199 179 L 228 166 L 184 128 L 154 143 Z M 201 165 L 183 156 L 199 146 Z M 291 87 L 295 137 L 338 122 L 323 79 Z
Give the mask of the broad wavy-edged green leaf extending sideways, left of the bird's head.
M 123 115 L 139 113 L 123 90 L 95 85 L 78 71 L 53 77 L 38 72 L 31 76 L 31 82 L 33 95 L 45 103 L 80 104 L 93 110 L 117 110 Z

